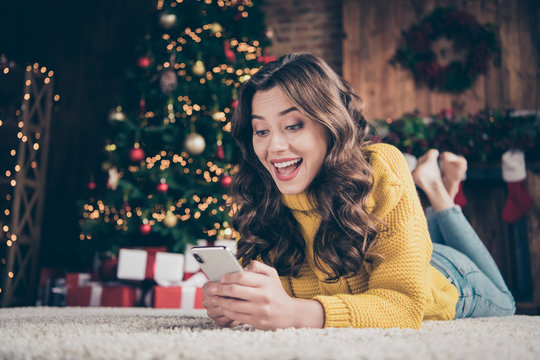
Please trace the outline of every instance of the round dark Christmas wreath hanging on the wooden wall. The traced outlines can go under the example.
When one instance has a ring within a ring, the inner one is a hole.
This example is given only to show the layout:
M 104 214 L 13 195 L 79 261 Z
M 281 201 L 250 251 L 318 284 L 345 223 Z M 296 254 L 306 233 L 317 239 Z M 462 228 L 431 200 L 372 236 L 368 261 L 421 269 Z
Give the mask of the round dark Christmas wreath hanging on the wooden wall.
M 499 61 L 492 26 L 479 24 L 464 11 L 437 8 L 402 35 L 403 45 L 392 63 L 400 63 L 416 80 L 439 91 L 463 92 L 487 72 L 490 59 Z

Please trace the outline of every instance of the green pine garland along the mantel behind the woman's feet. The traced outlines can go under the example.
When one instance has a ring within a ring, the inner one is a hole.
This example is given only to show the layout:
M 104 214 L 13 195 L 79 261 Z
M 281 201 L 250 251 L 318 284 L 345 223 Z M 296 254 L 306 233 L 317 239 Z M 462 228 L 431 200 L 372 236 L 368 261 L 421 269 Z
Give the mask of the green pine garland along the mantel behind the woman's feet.
M 540 116 L 536 112 L 484 110 L 460 118 L 450 110 L 434 116 L 415 112 L 399 119 L 376 120 L 372 128 L 372 140 L 417 157 L 430 148 L 477 162 L 500 161 L 509 149 L 523 150 L 531 160 L 540 157 Z

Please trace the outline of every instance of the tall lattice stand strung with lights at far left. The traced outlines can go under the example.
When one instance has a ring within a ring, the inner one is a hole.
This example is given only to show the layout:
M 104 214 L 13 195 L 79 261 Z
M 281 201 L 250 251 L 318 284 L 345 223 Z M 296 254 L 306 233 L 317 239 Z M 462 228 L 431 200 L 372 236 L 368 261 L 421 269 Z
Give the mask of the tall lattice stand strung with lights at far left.
M 53 72 L 39 64 L 26 68 L 20 109 L 13 201 L 0 278 L 0 305 L 33 305 L 47 177 L 49 131 L 53 107 Z M 57 97 L 58 95 L 56 95 Z M 58 99 L 54 99 L 58 100 Z

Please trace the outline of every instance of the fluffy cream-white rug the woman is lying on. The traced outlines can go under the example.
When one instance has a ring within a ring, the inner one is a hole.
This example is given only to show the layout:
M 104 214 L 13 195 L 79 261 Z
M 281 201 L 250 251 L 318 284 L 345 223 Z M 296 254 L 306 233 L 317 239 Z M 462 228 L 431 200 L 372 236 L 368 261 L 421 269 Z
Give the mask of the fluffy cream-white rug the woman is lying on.
M 2 359 L 540 359 L 540 316 L 422 329 L 221 329 L 205 311 L 0 309 Z

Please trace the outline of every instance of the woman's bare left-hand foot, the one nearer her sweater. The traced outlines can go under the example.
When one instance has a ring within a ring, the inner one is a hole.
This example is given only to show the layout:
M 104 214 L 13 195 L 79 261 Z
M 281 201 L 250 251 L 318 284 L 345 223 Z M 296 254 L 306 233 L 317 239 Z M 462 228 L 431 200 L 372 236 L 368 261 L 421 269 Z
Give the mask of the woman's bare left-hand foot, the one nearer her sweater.
M 414 183 L 424 191 L 435 211 L 454 206 L 453 198 L 442 181 L 438 158 L 438 150 L 428 150 L 418 159 L 416 169 L 412 172 Z

